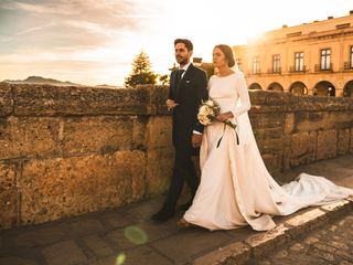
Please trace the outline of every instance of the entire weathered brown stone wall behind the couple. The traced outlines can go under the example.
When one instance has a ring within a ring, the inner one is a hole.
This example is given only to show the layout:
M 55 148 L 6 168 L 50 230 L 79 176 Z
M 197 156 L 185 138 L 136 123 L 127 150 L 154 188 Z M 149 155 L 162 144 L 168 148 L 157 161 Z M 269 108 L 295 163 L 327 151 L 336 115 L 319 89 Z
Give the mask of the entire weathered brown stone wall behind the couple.
M 0 83 L 0 229 L 164 192 L 173 165 L 165 97 L 165 87 Z M 353 153 L 353 98 L 261 91 L 250 98 L 259 149 L 278 180 L 291 167 Z

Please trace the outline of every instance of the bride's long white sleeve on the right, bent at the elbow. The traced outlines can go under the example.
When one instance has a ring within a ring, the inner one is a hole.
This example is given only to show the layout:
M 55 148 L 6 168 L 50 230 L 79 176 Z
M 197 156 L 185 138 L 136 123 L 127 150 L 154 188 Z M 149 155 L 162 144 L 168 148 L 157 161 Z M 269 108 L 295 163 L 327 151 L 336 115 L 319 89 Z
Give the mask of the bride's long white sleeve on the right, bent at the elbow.
M 252 107 L 249 93 L 247 91 L 245 77 L 242 72 L 237 73 L 236 93 L 238 94 L 238 97 L 240 98 L 242 104 L 240 105 L 237 104 L 236 106 L 234 106 L 234 108 L 232 110 L 232 114 L 235 118 L 238 117 L 239 115 L 248 112 Z

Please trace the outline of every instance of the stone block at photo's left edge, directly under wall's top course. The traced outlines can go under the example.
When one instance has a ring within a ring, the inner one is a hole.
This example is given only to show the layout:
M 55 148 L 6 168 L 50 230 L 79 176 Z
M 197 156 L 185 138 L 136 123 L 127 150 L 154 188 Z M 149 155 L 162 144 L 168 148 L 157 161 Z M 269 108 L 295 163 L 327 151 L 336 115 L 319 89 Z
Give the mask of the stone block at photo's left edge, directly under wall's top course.
M 60 123 L 47 117 L 9 117 L 0 123 L 0 159 L 60 152 Z

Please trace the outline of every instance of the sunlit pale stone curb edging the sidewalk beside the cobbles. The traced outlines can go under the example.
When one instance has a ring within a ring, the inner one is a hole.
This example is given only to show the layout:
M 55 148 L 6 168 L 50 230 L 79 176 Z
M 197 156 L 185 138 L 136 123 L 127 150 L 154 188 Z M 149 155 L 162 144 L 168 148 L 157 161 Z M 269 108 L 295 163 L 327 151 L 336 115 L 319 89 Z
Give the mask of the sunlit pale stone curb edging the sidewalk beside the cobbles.
M 302 214 L 298 214 L 276 229 L 252 235 L 243 242 L 231 243 L 195 258 L 193 265 L 231 265 L 247 264 L 259 258 L 264 252 L 290 242 L 301 236 L 302 232 L 315 230 L 319 225 L 328 223 L 353 210 L 353 197 L 328 205 L 315 208 Z

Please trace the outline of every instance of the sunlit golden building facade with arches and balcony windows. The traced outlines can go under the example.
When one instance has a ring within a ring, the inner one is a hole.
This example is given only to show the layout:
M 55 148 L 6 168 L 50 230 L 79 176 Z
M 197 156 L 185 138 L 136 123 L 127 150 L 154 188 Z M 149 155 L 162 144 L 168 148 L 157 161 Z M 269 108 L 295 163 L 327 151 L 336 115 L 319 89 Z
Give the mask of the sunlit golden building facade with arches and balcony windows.
M 233 49 L 249 89 L 353 96 L 353 11 L 284 25 Z

